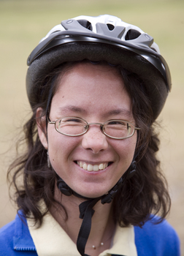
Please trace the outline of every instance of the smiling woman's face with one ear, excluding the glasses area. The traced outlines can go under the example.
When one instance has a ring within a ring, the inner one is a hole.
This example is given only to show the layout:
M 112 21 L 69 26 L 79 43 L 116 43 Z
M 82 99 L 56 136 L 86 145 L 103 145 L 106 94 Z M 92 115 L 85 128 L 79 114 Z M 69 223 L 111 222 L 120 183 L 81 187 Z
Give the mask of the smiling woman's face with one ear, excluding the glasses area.
M 135 124 L 131 99 L 117 70 L 90 63 L 77 64 L 59 81 L 51 102 L 50 120 L 62 116 L 84 118 L 88 123 L 123 119 Z M 104 135 L 99 125 L 92 124 L 84 135 L 69 137 L 56 132 L 54 124 L 48 124 L 46 139 L 38 129 L 55 172 L 85 197 L 107 193 L 134 157 L 137 133 L 115 140 Z

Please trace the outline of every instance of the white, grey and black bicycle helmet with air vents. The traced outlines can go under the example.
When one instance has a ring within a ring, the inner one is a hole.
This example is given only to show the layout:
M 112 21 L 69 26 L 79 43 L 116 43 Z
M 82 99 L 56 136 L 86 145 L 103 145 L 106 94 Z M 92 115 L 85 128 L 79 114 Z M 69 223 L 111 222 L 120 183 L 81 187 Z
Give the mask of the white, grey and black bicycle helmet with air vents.
M 145 83 L 154 118 L 161 112 L 171 89 L 166 61 L 153 37 L 112 15 L 79 16 L 64 20 L 44 37 L 28 57 L 26 89 L 33 108 L 36 82 L 66 61 L 107 61 L 136 73 Z

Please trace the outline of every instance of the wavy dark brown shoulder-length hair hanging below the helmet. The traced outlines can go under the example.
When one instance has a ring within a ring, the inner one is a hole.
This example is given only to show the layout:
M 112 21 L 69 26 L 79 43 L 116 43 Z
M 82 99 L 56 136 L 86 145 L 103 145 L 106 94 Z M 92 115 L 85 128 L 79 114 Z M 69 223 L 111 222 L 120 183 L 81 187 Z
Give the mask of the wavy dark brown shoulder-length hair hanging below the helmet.
M 18 210 L 21 210 L 26 217 L 30 217 L 32 213 L 37 225 L 42 224 L 42 218 L 50 207 L 58 203 L 54 197 L 55 171 L 47 167 L 47 151 L 42 146 L 37 133 L 37 108 L 43 109 L 43 116 L 47 115 L 47 109 L 57 89 L 58 79 L 61 79 L 61 76 L 74 64 L 74 62 L 62 64 L 46 78 L 42 78 L 42 86 L 39 86 L 39 94 L 36 96 L 39 97 L 39 104 L 32 109 L 31 118 L 23 126 L 23 139 L 19 140 L 17 145 L 19 148 L 22 142 L 26 143 L 26 152 L 24 151 L 12 162 L 7 174 L 10 187 L 15 188 L 14 200 Z M 169 212 L 171 202 L 166 179 L 161 173 L 160 162 L 156 157 L 160 141 L 154 129 L 156 121 L 153 118 L 150 99 L 147 97 L 144 83 L 136 74 L 120 66 L 112 68 L 118 69 L 123 77 L 126 90 L 131 97 L 134 119 L 141 128 L 135 152 L 137 172 L 126 180 L 115 195 L 114 218 L 123 226 L 130 224 L 142 226 L 151 214 L 159 214 L 162 221 Z M 39 209 L 40 200 L 44 200 L 47 206 L 45 212 Z

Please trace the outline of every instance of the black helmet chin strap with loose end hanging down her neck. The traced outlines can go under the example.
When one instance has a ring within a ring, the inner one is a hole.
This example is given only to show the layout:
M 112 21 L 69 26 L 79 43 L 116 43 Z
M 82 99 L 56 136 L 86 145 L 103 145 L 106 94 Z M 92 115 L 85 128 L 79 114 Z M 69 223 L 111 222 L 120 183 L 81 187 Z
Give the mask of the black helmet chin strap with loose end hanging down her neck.
M 74 195 L 76 197 L 85 199 L 85 201 L 83 203 L 80 203 L 80 206 L 79 206 L 80 219 L 83 219 L 83 222 L 82 222 L 82 225 L 80 226 L 80 231 L 77 237 L 77 250 L 80 252 L 80 255 L 89 256 L 85 254 L 85 245 L 88 241 L 88 237 L 91 231 L 91 220 L 95 212 L 93 210 L 93 206 L 95 206 L 99 200 L 101 200 L 102 204 L 111 203 L 113 197 L 115 197 L 115 194 L 118 192 L 118 189 L 120 189 L 120 187 L 126 181 L 126 179 L 134 176 L 135 172 L 136 172 L 136 161 L 133 161 L 131 162 L 129 169 L 126 171 L 126 173 L 123 174 L 123 176 L 120 178 L 117 184 L 115 184 L 115 186 L 112 187 L 112 189 L 110 189 L 110 191 L 106 195 L 102 195 L 101 197 L 96 197 L 96 198 L 83 197 L 82 195 L 77 194 L 64 182 L 62 178 L 60 178 L 56 174 L 57 186 L 62 194 L 66 196 Z

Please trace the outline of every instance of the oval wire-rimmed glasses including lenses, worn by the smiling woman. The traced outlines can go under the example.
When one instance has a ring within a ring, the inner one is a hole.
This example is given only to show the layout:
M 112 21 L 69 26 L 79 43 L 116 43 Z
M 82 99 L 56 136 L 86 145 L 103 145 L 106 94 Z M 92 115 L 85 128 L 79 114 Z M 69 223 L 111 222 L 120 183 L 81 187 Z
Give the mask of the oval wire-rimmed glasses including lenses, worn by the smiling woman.
M 140 129 L 135 127 L 134 124 L 120 119 L 112 119 L 104 123 L 88 123 L 83 118 L 64 116 L 56 121 L 50 121 L 50 118 L 47 117 L 47 121 L 49 124 L 55 124 L 57 132 L 72 137 L 84 135 L 88 132 L 90 125 L 99 125 L 104 135 L 116 140 L 130 138 L 134 135 L 135 130 Z

